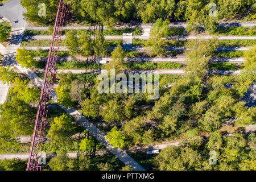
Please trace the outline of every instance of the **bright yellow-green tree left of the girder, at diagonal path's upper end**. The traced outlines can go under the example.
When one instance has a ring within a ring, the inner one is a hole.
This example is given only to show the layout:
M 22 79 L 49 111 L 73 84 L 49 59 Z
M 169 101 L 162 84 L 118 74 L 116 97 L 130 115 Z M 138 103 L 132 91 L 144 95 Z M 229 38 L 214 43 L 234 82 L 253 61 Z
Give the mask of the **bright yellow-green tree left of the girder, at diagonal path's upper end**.
M 36 60 L 34 60 L 34 55 L 30 51 L 27 51 L 24 47 L 22 49 L 17 49 L 17 54 L 14 55 L 16 57 L 15 61 L 20 64 L 22 67 L 31 68 L 35 67 L 37 64 Z

